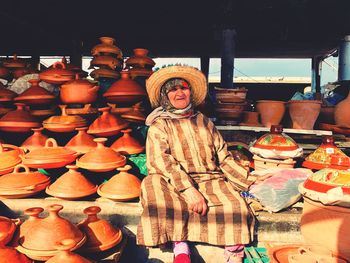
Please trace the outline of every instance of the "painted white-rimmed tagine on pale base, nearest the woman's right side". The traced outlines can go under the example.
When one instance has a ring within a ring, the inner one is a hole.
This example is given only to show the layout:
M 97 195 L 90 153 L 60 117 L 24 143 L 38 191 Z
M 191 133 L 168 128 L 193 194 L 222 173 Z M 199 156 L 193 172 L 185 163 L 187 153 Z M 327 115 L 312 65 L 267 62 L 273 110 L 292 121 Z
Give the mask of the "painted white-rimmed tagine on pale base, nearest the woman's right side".
M 303 155 L 303 149 L 288 135 L 283 133 L 281 125 L 272 125 L 270 132 L 257 139 L 249 148 L 254 154 L 256 171 L 269 168 L 293 168 L 294 158 Z

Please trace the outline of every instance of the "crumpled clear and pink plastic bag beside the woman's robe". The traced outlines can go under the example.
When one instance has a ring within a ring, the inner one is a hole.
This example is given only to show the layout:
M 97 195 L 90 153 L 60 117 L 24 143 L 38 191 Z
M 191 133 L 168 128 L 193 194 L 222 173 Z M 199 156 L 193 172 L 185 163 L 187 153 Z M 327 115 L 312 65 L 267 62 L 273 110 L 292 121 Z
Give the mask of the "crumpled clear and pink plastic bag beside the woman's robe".
M 274 175 L 260 184 L 252 185 L 249 192 L 257 198 L 269 212 L 278 212 L 296 203 L 301 194 L 298 185 L 312 174 L 304 168 L 297 169 L 268 169 L 260 174 L 273 173 Z

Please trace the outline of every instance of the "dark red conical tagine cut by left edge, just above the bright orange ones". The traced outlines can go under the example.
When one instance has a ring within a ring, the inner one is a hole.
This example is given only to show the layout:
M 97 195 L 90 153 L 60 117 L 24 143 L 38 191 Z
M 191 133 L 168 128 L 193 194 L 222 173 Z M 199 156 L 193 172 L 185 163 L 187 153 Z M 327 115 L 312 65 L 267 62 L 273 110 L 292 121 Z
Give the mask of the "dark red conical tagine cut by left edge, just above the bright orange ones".
M 41 127 L 31 114 L 25 109 L 25 104 L 15 103 L 17 109 L 6 113 L 0 119 L 0 130 L 6 132 L 30 132 L 32 128 Z

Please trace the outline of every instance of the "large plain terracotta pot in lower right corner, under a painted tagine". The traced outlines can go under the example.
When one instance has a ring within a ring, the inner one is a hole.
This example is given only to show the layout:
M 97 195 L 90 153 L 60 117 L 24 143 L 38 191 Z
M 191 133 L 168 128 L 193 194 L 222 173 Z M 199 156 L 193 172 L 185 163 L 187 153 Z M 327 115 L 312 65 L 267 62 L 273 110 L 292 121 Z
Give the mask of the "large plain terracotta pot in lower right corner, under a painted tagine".
M 350 208 L 323 205 L 304 198 L 300 221 L 301 233 L 306 242 L 320 245 L 333 255 L 350 260 Z

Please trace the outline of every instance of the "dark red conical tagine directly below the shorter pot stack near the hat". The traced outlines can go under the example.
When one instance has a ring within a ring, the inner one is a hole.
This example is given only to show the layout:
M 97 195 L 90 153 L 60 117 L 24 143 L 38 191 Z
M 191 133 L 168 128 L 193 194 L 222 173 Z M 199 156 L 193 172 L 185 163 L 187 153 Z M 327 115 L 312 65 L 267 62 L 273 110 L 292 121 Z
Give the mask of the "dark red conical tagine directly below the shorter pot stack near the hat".
M 103 94 L 103 97 L 111 103 L 134 104 L 141 101 L 146 95 L 146 90 L 136 81 L 130 79 L 127 71 L 122 71 L 121 79 L 114 82 Z

